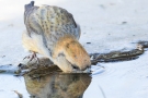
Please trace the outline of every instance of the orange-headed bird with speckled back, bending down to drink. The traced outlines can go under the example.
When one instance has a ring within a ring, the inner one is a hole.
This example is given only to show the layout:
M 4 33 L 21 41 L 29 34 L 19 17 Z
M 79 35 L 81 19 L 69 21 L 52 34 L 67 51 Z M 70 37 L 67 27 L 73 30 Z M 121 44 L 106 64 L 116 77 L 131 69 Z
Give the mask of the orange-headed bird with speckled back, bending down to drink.
M 24 5 L 23 47 L 39 53 L 58 65 L 64 72 L 84 71 L 91 66 L 88 52 L 79 42 L 80 25 L 67 10 L 34 1 Z

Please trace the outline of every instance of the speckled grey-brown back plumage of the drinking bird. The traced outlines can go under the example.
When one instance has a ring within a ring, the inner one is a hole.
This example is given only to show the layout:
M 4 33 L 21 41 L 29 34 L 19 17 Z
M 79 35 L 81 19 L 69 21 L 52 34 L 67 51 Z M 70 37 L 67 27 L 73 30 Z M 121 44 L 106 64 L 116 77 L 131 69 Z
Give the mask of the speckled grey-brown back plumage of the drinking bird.
M 76 39 L 80 37 L 79 25 L 72 14 L 65 9 L 52 5 L 32 7 L 25 12 L 24 19 L 29 35 L 32 36 L 31 33 L 42 35 L 47 47 L 52 48 L 66 35 L 71 35 Z

